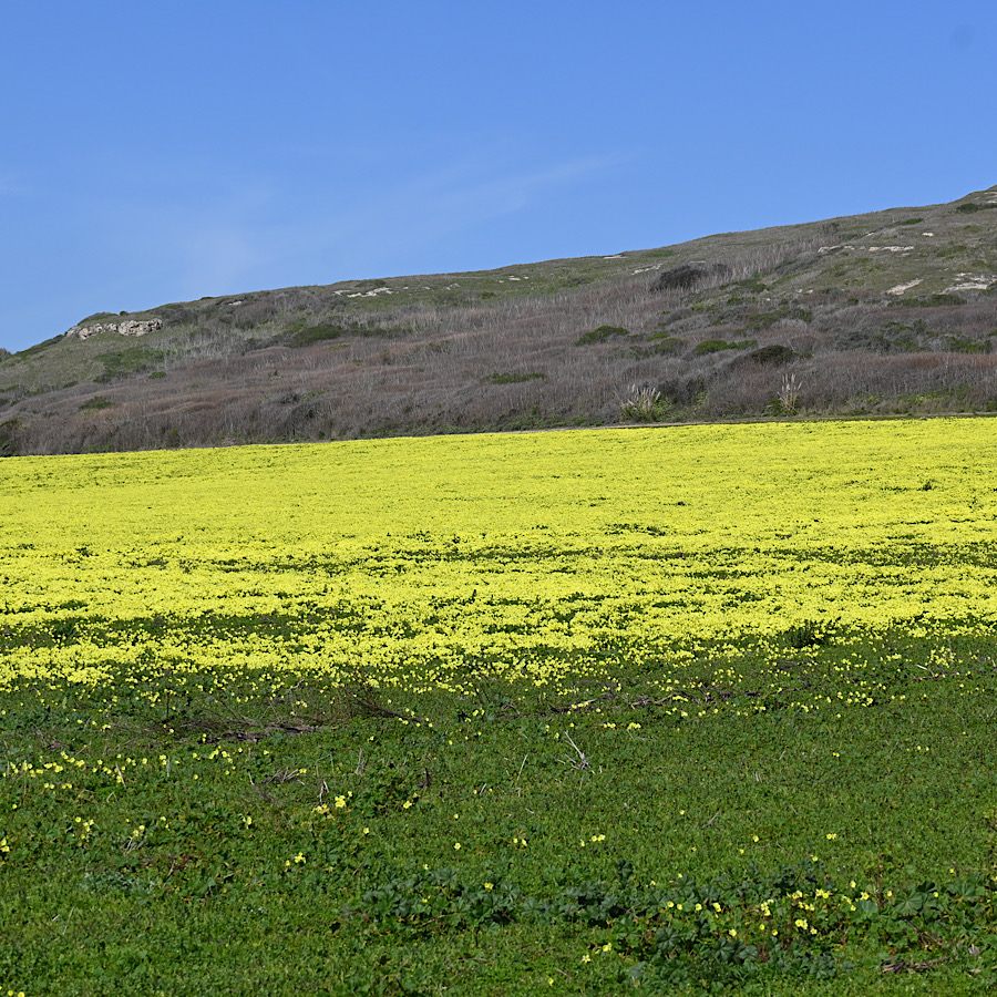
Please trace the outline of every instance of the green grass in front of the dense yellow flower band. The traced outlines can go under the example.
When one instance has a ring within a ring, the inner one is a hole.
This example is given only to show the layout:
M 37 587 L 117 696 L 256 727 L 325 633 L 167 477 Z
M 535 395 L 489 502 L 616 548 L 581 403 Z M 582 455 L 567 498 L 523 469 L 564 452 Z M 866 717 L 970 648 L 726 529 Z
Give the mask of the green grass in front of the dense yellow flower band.
M 215 625 L 288 638 L 304 626 Z M 75 637 L 70 619 L 3 639 Z M 561 699 L 485 671 L 458 699 L 378 693 L 360 676 L 350 688 L 287 674 L 250 686 L 220 664 L 175 677 L 152 661 L 119 676 L 113 697 L 3 693 L 0 984 L 993 985 L 993 644 L 953 635 L 939 664 L 900 631 L 803 625 L 784 639 L 784 687 L 762 681 L 760 645 L 744 639 L 693 643 L 686 687 L 667 695 L 652 668 L 611 654 L 604 682 Z M 856 656 L 871 662 L 861 687 Z M 815 903 L 818 890 L 830 900 Z

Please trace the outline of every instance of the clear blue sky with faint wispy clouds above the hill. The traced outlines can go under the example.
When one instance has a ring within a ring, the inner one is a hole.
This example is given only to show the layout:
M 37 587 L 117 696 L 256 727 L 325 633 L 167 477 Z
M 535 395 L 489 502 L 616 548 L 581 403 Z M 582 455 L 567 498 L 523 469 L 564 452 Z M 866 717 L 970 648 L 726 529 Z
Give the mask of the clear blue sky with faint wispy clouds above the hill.
M 997 184 L 997 4 L 50 0 L 0 34 L 0 346 Z

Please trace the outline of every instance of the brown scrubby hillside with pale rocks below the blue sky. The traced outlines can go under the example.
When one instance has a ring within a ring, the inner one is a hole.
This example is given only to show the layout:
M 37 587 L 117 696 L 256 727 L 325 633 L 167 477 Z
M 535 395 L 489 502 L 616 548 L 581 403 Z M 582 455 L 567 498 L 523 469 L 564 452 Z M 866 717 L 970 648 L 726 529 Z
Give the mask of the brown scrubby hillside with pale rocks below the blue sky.
M 0 360 L 0 453 L 994 411 L 995 341 L 997 186 L 604 257 L 89 316 Z

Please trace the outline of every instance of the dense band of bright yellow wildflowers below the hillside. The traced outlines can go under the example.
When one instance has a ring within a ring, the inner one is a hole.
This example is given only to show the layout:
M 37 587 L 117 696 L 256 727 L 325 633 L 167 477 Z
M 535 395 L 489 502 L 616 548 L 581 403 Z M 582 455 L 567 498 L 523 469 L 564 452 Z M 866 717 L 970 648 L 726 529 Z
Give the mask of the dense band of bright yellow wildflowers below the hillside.
M 611 645 L 701 713 L 682 697 L 697 640 L 733 659 L 812 620 L 993 627 L 995 465 L 984 419 L 10 460 L 0 629 L 47 639 L 12 641 L 0 687 L 176 687 L 224 661 L 467 693 L 484 662 L 557 693 Z M 865 664 L 803 707 L 871 702 Z M 134 691 L 168 713 L 163 688 Z

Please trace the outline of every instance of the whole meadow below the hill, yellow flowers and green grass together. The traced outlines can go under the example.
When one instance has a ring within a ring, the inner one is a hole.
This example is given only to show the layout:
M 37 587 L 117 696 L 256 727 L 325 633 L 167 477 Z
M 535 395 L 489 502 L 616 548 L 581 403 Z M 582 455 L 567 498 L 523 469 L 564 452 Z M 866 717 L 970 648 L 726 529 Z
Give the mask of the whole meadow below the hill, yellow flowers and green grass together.
M 0 463 L 0 994 L 997 984 L 997 422 Z

